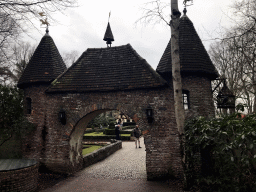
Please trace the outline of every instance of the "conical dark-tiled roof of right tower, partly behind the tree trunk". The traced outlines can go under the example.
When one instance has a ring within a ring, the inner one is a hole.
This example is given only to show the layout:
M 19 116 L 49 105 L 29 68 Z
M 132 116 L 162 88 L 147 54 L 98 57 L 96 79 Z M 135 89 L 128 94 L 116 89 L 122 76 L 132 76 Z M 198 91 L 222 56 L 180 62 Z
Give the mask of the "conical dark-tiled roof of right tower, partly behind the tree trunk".
M 180 18 L 180 64 L 181 74 L 206 75 L 210 79 L 216 79 L 219 75 L 199 38 L 193 23 L 186 16 Z M 158 73 L 172 72 L 171 39 L 157 66 Z

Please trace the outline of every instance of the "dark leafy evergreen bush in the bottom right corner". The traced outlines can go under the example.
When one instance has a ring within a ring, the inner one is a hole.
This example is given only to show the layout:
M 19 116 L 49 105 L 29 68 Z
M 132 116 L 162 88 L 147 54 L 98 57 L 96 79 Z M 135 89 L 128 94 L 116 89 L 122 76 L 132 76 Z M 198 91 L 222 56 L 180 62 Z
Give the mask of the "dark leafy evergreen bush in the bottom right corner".
M 255 120 L 256 115 L 241 118 L 237 113 L 187 122 L 187 185 L 198 185 L 203 191 L 256 191 Z

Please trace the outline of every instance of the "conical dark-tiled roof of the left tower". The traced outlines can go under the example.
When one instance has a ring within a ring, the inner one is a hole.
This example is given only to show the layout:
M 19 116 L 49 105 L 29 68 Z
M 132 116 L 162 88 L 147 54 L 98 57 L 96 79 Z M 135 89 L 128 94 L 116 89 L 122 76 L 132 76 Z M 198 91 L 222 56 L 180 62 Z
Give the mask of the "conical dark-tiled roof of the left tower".
M 18 87 L 23 88 L 31 83 L 50 84 L 66 69 L 53 39 L 46 33 L 20 77 Z

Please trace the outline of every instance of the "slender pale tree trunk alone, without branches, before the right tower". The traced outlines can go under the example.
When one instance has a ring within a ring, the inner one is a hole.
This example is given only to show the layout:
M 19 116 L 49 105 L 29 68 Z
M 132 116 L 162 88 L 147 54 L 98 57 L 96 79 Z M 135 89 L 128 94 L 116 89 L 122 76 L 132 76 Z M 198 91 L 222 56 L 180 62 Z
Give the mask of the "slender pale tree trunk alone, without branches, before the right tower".
M 180 75 L 180 54 L 179 54 L 179 19 L 181 13 L 178 9 L 177 0 L 171 0 L 172 20 L 171 26 L 171 50 L 172 50 L 172 80 L 174 90 L 175 117 L 180 135 L 184 134 L 184 108 L 182 101 L 182 82 Z

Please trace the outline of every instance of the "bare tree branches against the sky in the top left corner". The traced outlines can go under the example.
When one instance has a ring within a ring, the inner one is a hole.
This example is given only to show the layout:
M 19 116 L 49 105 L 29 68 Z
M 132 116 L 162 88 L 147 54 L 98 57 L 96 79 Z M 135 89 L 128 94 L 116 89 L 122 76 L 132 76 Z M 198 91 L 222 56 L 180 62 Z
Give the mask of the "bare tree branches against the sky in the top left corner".
M 15 78 L 11 49 L 19 43 L 22 33 L 29 33 L 35 28 L 34 22 L 41 21 L 49 25 L 56 20 L 55 12 L 63 12 L 66 8 L 75 7 L 77 0 L 0 0 L 0 81 L 9 82 Z

